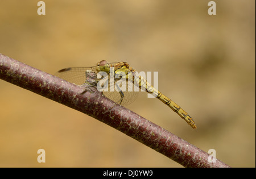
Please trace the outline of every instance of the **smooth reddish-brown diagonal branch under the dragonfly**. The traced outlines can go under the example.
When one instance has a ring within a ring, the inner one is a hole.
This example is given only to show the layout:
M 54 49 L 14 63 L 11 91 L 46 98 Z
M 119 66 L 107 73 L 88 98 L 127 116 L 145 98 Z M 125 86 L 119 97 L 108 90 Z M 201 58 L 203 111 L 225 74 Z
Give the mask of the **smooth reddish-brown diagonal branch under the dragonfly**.
M 115 105 L 91 86 L 71 84 L 1 53 L 0 78 L 92 116 L 185 167 L 230 167 L 218 159 L 216 163 L 209 163 L 207 152 L 133 111 Z

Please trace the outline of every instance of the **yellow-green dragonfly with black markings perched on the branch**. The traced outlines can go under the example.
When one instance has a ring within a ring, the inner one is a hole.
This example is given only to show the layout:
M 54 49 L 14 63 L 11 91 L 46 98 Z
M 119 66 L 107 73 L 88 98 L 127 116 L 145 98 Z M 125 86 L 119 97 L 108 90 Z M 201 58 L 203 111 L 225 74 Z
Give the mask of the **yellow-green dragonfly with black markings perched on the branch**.
M 100 63 L 97 63 L 96 66 L 61 69 L 55 76 L 76 85 L 84 85 L 86 84 L 86 72 L 88 71 L 100 74 L 100 77 L 97 76 L 96 80 L 97 89 L 101 90 L 107 98 L 115 103 L 119 103 L 119 105 L 122 106 L 129 105 L 138 96 L 135 90 L 137 87 L 153 95 L 155 98 L 158 98 L 183 118 L 189 126 L 196 128 L 196 123 L 187 112 L 181 109 L 181 107 L 170 98 L 166 97 L 166 95 L 155 89 L 144 77 L 134 75 L 138 74 L 138 72 L 131 68 L 126 62 L 108 63 L 106 60 L 102 60 Z M 127 84 L 123 85 L 122 82 L 127 82 Z M 113 90 L 113 88 L 115 90 Z

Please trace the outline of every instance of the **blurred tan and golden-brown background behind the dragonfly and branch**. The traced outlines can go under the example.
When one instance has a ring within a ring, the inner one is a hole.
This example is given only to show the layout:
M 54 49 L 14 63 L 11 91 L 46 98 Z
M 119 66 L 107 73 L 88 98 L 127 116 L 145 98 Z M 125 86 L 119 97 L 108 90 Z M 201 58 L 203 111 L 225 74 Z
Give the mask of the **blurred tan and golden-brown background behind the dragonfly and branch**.
M 255 1 L 0 1 L 0 53 L 54 74 L 101 60 L 158 72 L 197 130 L 141 93 L 126 106 L 233 167 L 255 167 Z M 1 167 L 183 167 L 76 110 L 0 80 Z M 46 151 L 46 163 L 37 151 Z

